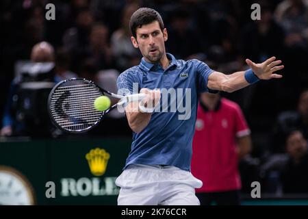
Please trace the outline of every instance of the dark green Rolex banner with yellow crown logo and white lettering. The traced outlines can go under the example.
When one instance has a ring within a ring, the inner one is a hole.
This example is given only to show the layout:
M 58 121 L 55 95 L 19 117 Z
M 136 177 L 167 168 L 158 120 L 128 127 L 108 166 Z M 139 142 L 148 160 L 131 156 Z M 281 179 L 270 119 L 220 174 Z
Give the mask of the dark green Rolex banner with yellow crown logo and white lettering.
M 37 205 L 116 205 L 130 148 L 125 139 L 1 142 L 0 165 L 27 178 Z

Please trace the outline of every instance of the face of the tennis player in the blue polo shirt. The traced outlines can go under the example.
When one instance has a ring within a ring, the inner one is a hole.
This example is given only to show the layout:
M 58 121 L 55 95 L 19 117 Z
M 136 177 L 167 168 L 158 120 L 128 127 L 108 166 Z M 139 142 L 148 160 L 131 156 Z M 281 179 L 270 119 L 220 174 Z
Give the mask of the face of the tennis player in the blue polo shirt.
M 162 31 L 158 21 L 153 21 L 147 25 L 136 29 L 137 38 L 131 37 L 133 46 L 139 48 L 142 55 L 148 62 L 159 62 L 165 50 L 165 41 L 168 39 L 166 28 Z

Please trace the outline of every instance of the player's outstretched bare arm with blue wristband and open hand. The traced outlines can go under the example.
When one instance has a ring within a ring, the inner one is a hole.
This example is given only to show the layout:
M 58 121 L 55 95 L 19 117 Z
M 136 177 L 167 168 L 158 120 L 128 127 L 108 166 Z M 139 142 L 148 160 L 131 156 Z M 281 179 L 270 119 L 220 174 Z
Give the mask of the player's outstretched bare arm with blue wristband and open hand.
M 259 79 L 279 79 L 282 75 L 278 75 L 275 72 L 283 69 L 284 66 L 279 66 L 281 60 L 275 61 L 275 59 L 276 57 L 270 57 L 268 60 L 259 64 L 255 64 L 255 62 L 246 59 L 246 63 L 251 68 L 231 75 L 224 75 L 219 72 L 211 73 L 211 75 L 209 75 L 207 87 L 211 90 L 233 92 L 235 90 L 240 90 L 251 83 L 255 83 L 259 81 Z

